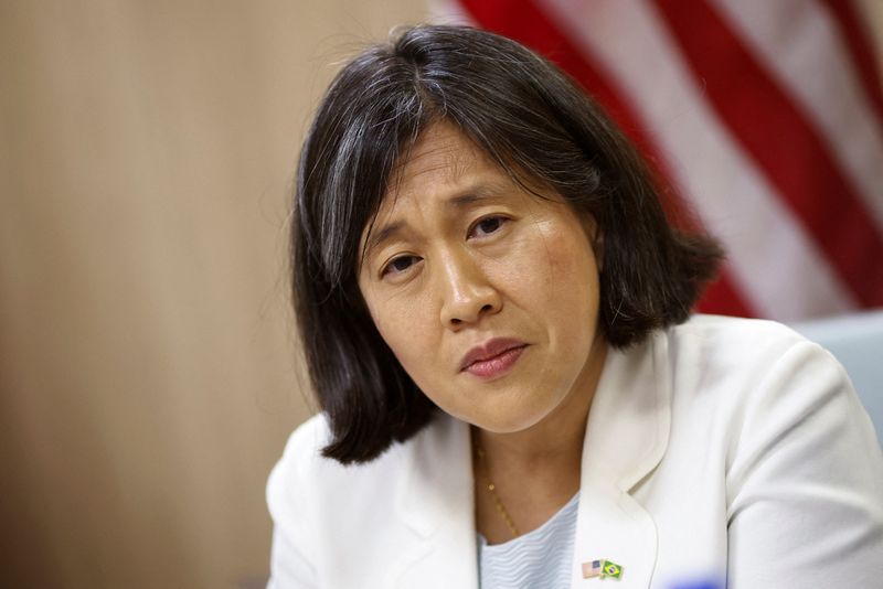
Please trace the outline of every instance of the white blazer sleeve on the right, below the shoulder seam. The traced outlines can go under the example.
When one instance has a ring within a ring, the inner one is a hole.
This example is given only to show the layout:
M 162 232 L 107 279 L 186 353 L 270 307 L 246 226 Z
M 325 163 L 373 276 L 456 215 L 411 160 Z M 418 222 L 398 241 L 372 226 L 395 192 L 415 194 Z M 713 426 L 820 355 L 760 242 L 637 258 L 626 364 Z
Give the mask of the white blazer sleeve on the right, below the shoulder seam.
M 728 452 L 727 587 L 883 586 L 883 454 L 843 368 L 801 341 L 756 393 Z

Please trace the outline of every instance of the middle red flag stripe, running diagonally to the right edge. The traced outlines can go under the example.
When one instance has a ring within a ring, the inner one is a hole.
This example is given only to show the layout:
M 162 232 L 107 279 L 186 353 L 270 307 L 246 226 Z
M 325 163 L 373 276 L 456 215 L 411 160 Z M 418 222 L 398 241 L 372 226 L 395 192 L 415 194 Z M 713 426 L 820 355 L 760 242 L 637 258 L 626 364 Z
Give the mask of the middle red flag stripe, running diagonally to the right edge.
M 864 306 L 883 304 L 883 237 L 822 139 L 704 2 L 656 0 L 710 104 Z

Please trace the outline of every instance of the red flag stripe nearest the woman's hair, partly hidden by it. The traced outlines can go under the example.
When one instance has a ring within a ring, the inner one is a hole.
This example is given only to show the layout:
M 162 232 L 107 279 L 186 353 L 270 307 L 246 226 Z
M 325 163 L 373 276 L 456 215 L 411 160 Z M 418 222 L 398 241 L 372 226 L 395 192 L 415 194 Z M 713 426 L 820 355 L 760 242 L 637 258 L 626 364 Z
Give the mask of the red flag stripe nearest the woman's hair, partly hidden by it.
M 577 50 L 532 1 L 460 0 L 459 3 L 480 26 L 515 39 L 540 52 L 588 89 L 649 160 L 652 172 L 658 176 L 660 196 L 669 216 L 685 229 L 700 229 L 700 224 L 677 191 L 667 189 L 672 185 L 669 180 L 671 176 L 666 173 L 663 160 L 658 156 L 660 150 L 653 146 L 634 110 L 602 74 L 602 68 L 592 62 L 591 55 Z M 756 314 L 738 293 L 726 268 L 705 292 L 698 308 L 704 312 L 742 317 Z

